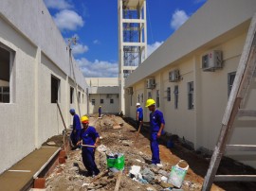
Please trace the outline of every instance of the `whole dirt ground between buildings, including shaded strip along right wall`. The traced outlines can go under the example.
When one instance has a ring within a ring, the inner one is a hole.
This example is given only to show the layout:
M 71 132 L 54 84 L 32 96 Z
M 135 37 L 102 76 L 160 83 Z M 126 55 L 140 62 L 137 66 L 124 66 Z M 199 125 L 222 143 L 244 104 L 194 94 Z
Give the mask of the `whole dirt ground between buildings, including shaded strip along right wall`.
M 161 181 L 161 177 L 168 177 L 172 165 L 180 160 L 185 160 L 189 167 L 182 190 L 201 190 L 204 176 L 210 163 L 210 157 L 198 151 L 184 147 L 176 136 L 173 136 L 173 148 L 167 148 L 167 136 L 160 140 L 160 159 L 163 166 L 151 165 L 151 150 L 149 143 L 149 128 L 145 124 L 137 136 L 135 121 L 129 118 L 121 118 L 116 115 L 104 115 L 102 118 L 93 115 L 90 117 L 90 125 L 94 126 L 101 135 L 101 147 L 96 151 L 96 164 L 101 170 L 95 178 L 86 176 L 86 170 L 82 165 L 81 150 L 70 150 L 67 153 L 66 163 L 57 165 L 54 171 L 46 178 L 46 190 L 114 190 L 118 174 L 107 171 L 106 154 L 103 146 L 113 151 L 123 153 L 125 167 L 121 175 L 119 190 L 175 190 L 174 185 Z M 63 143 L 63 136 L 55 136 L 48 140 L 56 145 Z M 132 165 L 148 168 L 154 173 L 154 180 L 137 182 L 129 176 Z M 105 174 L 103 174 L 106 172 Z M 256 174 L 256 170 L 238 164 L 230 159 L 221 162 L 217 174 Z M 101 176 L 102 175 L 102 176 Z M 213 184 L 211 190 L 255 190 L 254 182 L 221 182 Z M 178 190 L 178 189 L 176 189 Z

